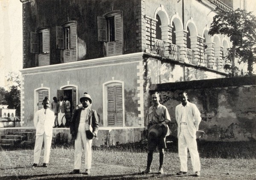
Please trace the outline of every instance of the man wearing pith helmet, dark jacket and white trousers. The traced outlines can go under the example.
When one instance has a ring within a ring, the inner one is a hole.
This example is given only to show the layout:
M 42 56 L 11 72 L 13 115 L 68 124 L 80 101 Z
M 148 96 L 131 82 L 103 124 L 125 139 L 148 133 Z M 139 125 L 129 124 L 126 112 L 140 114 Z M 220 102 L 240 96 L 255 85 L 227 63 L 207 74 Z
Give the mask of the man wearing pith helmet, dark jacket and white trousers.
M 92 98 L 86 92 L 80 98 L 82 107 L 76 109 L 70 122 L 70 134 L 75 140 L 74 170 L 70 174 L 80 174 L 81 155 L 84 147 L 85 174 L 90 174 L 92 163 L 92 139 L 97 137 L 99 120 L 97 112 L 91 109 Z M 82 146 L 83 145 L 83 146 Z

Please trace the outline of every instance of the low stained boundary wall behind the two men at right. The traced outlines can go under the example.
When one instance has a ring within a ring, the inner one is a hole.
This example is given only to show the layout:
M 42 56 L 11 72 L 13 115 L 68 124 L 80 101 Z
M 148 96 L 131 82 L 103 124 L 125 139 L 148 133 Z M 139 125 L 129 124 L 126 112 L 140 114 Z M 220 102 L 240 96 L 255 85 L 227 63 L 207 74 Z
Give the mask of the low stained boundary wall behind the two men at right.
M 200 130 L 207 141 L 256 139 L 256 77 L 221 78 L 151 86 L 175 122 L 178 93 L 185 90 L 201 112 Z M 177 125 L 172 126 L 177 136 Z

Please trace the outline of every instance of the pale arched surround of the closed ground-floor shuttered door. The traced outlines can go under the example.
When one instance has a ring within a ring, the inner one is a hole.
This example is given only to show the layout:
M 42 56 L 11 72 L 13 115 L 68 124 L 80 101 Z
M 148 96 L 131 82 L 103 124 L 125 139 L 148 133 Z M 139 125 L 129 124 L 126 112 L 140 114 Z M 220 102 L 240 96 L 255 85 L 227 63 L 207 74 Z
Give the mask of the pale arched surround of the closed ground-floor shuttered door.
M 125 95 L 124 95 L 124 82 L 120 80 L 111 80 L 102 84 L 102 97 L 103 97 L 103 126 L 108 126 L 108 86 L 122 86 L 122 126 L 125 126 Z

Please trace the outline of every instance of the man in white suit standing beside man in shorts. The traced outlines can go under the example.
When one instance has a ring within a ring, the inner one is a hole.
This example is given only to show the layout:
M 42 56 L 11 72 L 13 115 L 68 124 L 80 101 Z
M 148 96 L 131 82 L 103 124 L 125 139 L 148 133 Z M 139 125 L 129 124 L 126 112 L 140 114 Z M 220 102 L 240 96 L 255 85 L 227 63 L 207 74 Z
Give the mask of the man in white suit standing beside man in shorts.
M 178 151 L 180 157 L 180 171 L 177 175 L 187 173 L 187 152 L 191 156 L 195 176 L 200 176 L 201 164 L 197 149 L 196 131 L 201 122 L 201 114 L 195 104 L 188 101 L 185 91 L 179 93 L 181 104 L 176 106 L 175 115 L 178 124 Z

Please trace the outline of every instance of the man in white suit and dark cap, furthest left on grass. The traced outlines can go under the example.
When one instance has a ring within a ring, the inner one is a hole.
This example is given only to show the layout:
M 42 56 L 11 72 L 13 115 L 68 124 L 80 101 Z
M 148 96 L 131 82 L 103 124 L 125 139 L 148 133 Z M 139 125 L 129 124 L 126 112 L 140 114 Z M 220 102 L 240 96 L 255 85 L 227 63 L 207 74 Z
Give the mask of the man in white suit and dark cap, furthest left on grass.
M 50 149 L 52 145 L 52 126 L 54 125 L 54 112 L 49 109 L 50 101 L 47 97 L 43 100 L 43 109 L 36 111 L 34 117 L 34 125 L 36 128 L 34 163 L 32 168 L 38 166 L 41 149 L 44 141 L 44 162 L 43 167 L 48 167 Z

